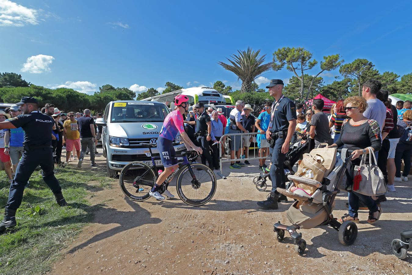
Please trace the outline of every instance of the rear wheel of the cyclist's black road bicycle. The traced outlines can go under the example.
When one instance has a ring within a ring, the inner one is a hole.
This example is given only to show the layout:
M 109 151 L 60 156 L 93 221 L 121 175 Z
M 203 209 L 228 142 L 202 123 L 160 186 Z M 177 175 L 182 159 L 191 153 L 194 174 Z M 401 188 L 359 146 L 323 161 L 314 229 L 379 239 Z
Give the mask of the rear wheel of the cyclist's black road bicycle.
M 147 200 L 149 191 L 156 183 L 155 172 L 144 162 L 134 161 L 125 165 L 119 175 L 120 189 L 134 201 Z

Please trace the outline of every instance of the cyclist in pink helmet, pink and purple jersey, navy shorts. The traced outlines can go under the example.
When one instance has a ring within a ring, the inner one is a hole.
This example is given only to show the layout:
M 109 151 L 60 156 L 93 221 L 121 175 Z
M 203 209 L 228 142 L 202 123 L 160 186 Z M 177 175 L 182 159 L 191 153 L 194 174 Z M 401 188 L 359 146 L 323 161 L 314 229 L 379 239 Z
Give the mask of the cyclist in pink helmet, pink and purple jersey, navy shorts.
M 183 94 L 175 96 L 174 103 L 178 109 L 166 116 L 159 134 L 159 139 L 157 139 L 157 150 L 159 150 L 164 171 L 159 175 L 156 184 L 149 191 L 149 195 L 155 197 L 157 200 L 165 199 L 159 193 L 160 186 L 167 179 L 167 177 L 179 167 L 178 159 L 175 156 L 176 152 L 172 145 L 173 139 L 175 139 L 176 135 L 180 133 L 180 137 L 182 138 L 187 150 L 195 150 L 199 155 L 202 153 L 202 149 L 195 146 L 189 136 L 185 133 L 185 127 L 183 126 L 183 113 L 187 112 L 187 109 L 189 108 L 189 103 L 187 101 L 189 101 L 189 98 Z M 174 197 L 167 189 L 163 193 L 167 197 Z

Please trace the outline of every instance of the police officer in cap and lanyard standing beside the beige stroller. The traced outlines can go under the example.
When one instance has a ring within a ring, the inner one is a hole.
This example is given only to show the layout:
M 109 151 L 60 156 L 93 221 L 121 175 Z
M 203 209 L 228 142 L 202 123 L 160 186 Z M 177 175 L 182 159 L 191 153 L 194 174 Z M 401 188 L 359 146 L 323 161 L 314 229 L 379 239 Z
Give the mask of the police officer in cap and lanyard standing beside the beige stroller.
M 272 104 L 271 122 L 266 132 L 266 137 L 271 144 L 270 151 L 272 151 L 272 166 L 270 167 L 272 192 L 267 200 L 258 202 L 258 205 L 264 209 L 278 209 L 279 192 L 276 191 L 276 187 L 281 187 L 283 183 L 283 162 L 295 132 L 296 106 L 293 101 L 282 94 L 282 80 L 272 79 L 266 88 L 269 89 L 270 96 L 275 98 Z

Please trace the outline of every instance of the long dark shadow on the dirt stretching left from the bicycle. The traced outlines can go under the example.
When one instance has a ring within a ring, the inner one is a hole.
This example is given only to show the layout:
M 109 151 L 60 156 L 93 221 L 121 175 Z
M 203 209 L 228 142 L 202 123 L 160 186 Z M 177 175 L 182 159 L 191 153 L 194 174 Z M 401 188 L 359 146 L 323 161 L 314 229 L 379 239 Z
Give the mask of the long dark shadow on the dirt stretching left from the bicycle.
M 140 207 L 139 204 L 133 203 L 131 200 L 128 200 L 126 198 L 124 200 L 127 204 L 130 205 L 132 210 L 120 211 L 115 208 L 105 208 L 102 205 L 90 207 L 92 209 L 92 212 L 94 212 L 94 219 L 92 221 L 93 223 L 99 223 L 102 225 L 118 223 L 119 225 L 104 232 L 98 233 L 97 235 L 94 235 L 90 239 L 70 249 L 68 253 L 74 253 L 75 251 L 82 249 L 89 244 L 99 242 L 123 231 L 133 229 L 145 224 L 160 223 L 162 221 L 159 218 L 152 218 L 151 214 L 146 209 Z M 138 216 L 139 218 L 136 219 L 136 216 Z M 56 223 L 59 224 L 59 221 L 56 221 Z

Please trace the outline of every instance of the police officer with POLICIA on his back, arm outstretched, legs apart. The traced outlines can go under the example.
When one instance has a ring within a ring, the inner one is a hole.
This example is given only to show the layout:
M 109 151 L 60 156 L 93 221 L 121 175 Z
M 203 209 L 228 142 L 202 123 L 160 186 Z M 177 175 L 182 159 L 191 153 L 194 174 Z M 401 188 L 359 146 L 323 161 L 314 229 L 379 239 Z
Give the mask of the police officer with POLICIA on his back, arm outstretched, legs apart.
M 37 165 L 42 168 L 43 180 L 54 193 L 57 203 L 60 206 L 67 206 L 59 181 L 53 172 L 52 128 L 54 120 L 49 115 L 38 111 L 39 103 L 33 97 L 23 96 L 21 102 L 16 105 L 21 106 L 23 115 L 0 122 L 0 129 L 21 127 L 24 130 L 23 156 L 10 185 L 5 217 L 0 223 L 0 233 L 9 227 L 16 226 L 16 210 L 23 200 L 24 187 Z

